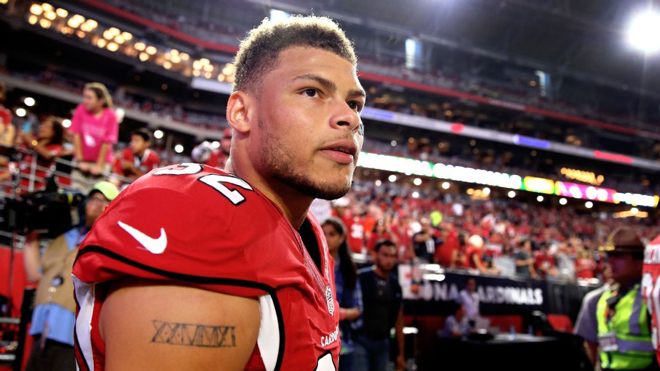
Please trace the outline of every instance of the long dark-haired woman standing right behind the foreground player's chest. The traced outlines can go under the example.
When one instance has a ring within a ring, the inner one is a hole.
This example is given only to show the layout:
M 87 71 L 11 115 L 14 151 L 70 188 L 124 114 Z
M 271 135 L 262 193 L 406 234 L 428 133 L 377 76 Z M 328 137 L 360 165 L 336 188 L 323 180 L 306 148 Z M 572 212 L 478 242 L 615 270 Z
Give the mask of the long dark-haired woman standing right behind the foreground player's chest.
M 342 371 L 353 370 L 353 329 L 352 323 L 362 315 L 362 288 L 358 273 L 350 257 L 346 226 L 340 219 L 332 217 L 323 224 L 323 233 L 328 243 L 328 252 L 335 260 L 335 290 L 339 302 L 339 327 L 341 354 L 339 363 Z M 359 323 L 356 323 L 359 325 Z

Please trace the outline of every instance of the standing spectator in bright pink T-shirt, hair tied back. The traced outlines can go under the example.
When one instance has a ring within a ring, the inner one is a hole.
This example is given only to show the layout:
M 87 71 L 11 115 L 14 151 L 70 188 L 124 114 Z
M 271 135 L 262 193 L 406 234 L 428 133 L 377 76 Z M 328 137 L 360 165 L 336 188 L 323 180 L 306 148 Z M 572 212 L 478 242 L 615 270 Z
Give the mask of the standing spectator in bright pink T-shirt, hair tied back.
M 73 187 L 88 189 L 112 170 L 112 145 L 117 143 L 119 123 L 112 110 L 112 97 L 104 84 L 89 83 L 82 91 L 69 130 L 74 133 L 78 169 L 71 174 Z

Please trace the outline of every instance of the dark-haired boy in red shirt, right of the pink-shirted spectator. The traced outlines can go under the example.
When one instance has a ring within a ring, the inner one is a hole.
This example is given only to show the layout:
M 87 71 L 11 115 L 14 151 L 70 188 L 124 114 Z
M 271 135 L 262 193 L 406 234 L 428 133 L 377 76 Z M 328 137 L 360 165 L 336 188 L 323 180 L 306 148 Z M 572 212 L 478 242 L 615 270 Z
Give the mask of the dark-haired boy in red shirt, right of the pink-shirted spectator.
M 160 156 L 152 151 L 151 133 L 139 129 L 131 133 L 131 145 L 115 162 L 115 174 L 136 180 L 160 165 Z

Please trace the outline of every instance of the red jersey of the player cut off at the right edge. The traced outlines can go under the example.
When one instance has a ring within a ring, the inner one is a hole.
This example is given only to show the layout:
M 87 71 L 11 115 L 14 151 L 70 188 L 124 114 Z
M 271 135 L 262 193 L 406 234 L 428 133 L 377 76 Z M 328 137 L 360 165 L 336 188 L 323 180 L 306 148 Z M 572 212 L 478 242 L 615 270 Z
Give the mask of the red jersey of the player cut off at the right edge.
M 660 236 L 651 241 L 644 251 L 644 275 L 642 276 L 642 296 L 651 314 L 651 339 L 655 356 L 660 362 Z

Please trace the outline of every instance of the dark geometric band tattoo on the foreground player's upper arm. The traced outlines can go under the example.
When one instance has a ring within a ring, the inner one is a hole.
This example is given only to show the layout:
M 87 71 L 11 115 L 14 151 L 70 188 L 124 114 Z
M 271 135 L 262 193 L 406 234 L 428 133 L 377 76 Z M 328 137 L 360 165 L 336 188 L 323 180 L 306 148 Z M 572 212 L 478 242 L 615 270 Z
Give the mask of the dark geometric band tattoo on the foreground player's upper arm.
M 210 326 L 153 320 L 156 334 L 151 343 L 203 348 L 236 347 L 235 326 Z

